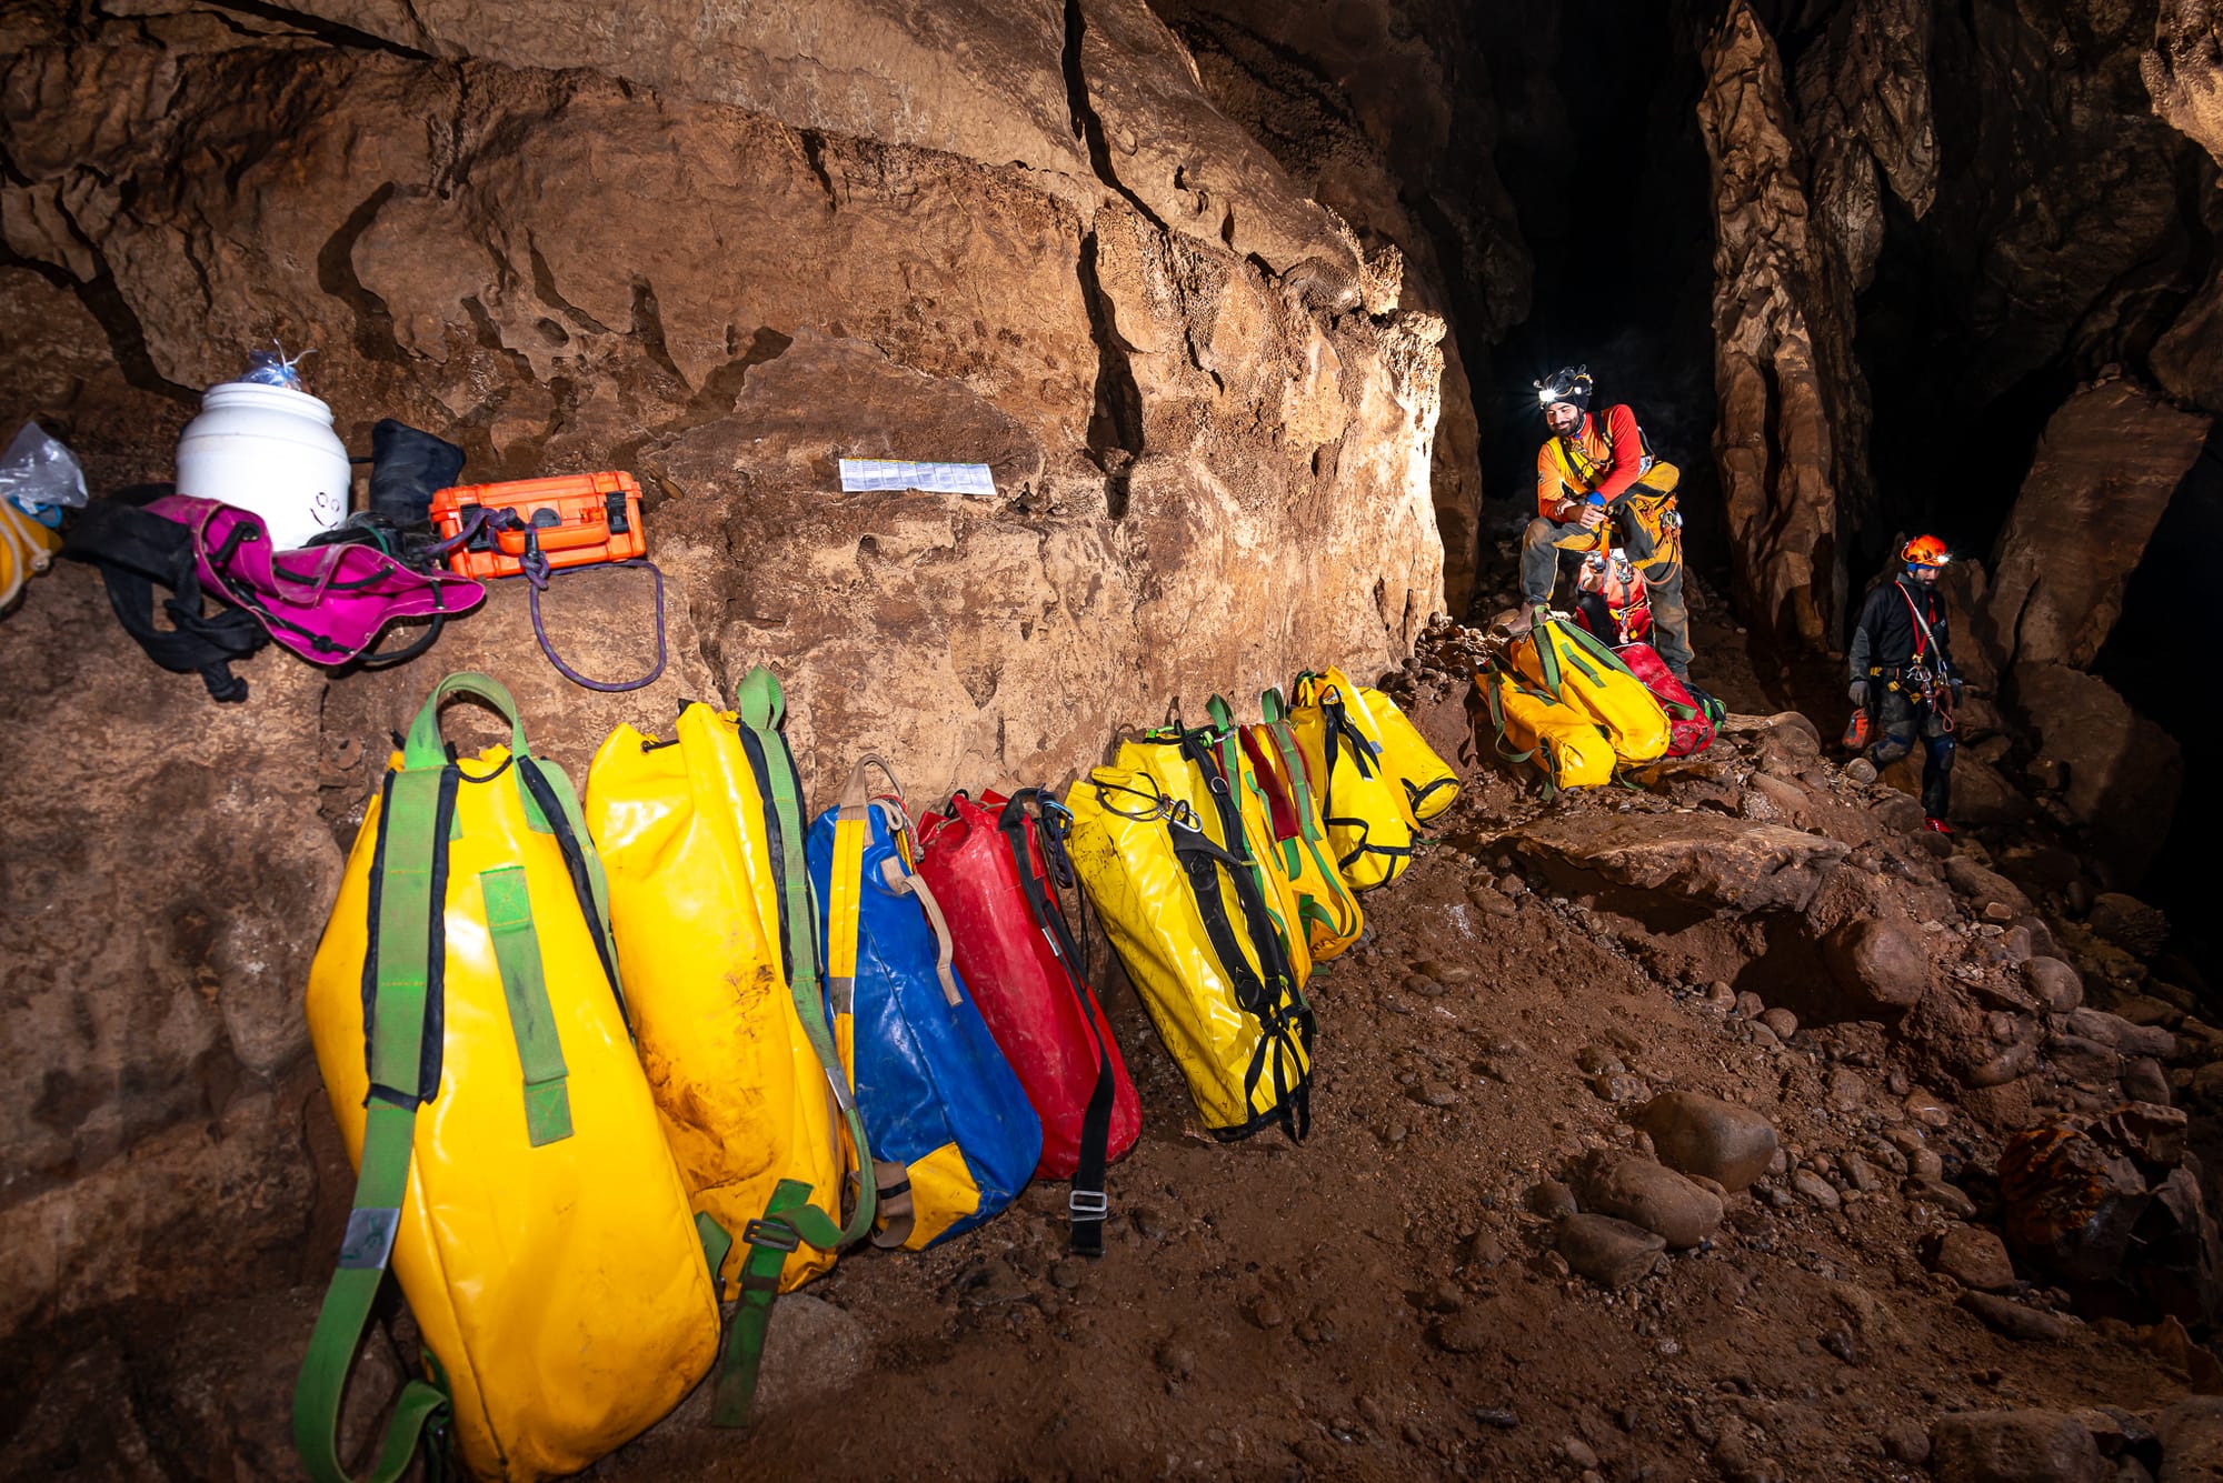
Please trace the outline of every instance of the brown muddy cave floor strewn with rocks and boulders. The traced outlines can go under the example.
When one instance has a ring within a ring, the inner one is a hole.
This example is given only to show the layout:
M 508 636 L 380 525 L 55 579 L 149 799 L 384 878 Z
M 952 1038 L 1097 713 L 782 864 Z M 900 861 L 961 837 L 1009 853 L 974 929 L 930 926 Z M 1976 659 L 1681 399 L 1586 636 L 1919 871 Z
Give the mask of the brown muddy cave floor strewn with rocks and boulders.
M 698 1390 L 594 1476 L 2219 1476 L 2223 1401 L 2187 1396 L 2223 1365 L 2161 1308 L 2212 1297 L 2183 1170 L 2214 1166 L 2223 1030 L 2150 968 L 2152 917 L 2074 912 L 2090 897 L 2041 879 L 2058 850 L 1923 835 L 1890 781 L 1767 715 L 1783 677 L 1763 688 L 1714 615 L 1698 673 L 1741 715 L 1709 753 L 1556 801 L 1483 761 L 1365 899 L 1365 939 L 1309 988 L 1305 1146 L 1203 1134 L 1116 986 L 1145 1128 L 1103 1261 L 1065 1254 L 1063 1186 L 947 1248 L 845 1259 L 780 1301 L 747 1436 L 702 1425 Z M 1441 726 L 1472 639 L 1434 630 L 1392 690 Z M 1654 1101 L 1689 1092 L 1745 1112 Z M 2141 1099 L 2083 1183 L 2003 1192 L 2010 1134 Z M 1729 1157 L 1752 1114 L 1781 1152 L 1750 1188 L 1658 1177 L 1656 1143 L 1703 1123 Z M 298 1288 L 56 1336 L 0 1472 L 216 1476 L 229 1454 L 222 1476 L 291 1476 L 349 1183 L 320 1174 Z M 2030 1201 L 2145 1208 L 2141 1181 L 2183 1225 L 2145 1248 L 2152 1281 L 2056 1281 Z M 398 1308 L 389 1328 L 356 1439 L 396 1381 Z

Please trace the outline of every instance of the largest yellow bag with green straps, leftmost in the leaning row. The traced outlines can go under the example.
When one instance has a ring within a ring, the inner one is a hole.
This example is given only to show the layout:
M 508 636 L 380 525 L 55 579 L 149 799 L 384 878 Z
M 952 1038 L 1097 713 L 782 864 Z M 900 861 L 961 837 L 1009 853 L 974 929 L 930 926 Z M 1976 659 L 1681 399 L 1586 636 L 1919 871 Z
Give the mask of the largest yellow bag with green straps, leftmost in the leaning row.
M 451 759 L 473 695 L 509 746 Z M 338 1272 L 293 1392 L 318 1483 L 349 1363 L 391 1263 L 427 1350 L 373 1479 L 451 1434 L 482 1479 L 578 1472 L 709 1370 L 718 1292 L 634 1057 L 607 892 L 560 768 L 509 693 L 449 675 L 356 835 L 307 1017 L 358 1168 Z

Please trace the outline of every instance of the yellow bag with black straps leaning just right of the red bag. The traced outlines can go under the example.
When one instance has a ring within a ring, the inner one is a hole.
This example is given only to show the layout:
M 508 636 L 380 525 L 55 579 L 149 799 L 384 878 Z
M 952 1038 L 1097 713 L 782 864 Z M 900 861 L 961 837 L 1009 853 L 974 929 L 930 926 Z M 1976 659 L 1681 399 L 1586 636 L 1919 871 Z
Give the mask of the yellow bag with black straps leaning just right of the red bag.
M 1303 1141 L 1312 1008 L 1252 861 L 1227 848 L 1243 828 L 1227 826 L 1205 770 L 1178 739 L 1123 742 L 1065 806 L 1074 872 L 1205 1126 L 1220 1139 L 1280 1126 Z

